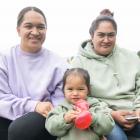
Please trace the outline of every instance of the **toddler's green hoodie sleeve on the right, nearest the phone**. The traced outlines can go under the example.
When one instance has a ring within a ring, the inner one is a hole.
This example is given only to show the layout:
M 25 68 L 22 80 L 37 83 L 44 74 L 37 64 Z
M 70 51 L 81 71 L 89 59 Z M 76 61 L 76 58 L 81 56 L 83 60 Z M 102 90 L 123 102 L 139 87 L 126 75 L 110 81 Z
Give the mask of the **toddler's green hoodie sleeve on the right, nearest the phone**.
M 104 102 L 92 104 L 90 112 L 93 116 L 91 128 L 97 135 L 102 136 L 111 132 L 115 122 L 110 114 L 110 109 Z

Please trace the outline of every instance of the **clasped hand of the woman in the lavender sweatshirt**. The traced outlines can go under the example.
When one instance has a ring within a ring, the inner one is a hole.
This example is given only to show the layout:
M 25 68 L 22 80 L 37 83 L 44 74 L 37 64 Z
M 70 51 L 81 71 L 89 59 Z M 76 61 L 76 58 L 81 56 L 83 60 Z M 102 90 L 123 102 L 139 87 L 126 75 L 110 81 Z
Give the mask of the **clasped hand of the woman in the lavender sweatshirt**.
M 51 102 L 38 102 L 35 111 L 46 117 L 52 108 L 53 105 Z

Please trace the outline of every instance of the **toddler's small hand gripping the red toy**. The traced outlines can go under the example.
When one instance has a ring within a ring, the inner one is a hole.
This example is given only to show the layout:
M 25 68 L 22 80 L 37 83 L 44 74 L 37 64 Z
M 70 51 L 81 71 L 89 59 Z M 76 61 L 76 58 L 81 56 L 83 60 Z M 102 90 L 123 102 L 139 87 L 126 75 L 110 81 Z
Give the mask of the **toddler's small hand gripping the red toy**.
M 75 120 L 79 113 L 80 112 L 77 110 L 69 110 L 67 113 L 65 113 L 64 120 L 66 123 L 71 123 Z

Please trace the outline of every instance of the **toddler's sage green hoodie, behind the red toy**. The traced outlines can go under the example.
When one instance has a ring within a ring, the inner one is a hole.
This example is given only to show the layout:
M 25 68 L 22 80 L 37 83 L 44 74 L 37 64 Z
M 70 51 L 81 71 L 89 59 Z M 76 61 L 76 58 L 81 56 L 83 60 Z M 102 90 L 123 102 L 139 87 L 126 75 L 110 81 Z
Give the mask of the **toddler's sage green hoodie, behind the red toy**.
M 64 114 L 72 110 L 73 105 L 64 100 L 48 114 L 45 124 L 48 132 L 57 136 L 57 140 L 100 140 L 101 136 L 111 132 L 114 120 L 108 112 L 107 105 L 92 97 L 88 97 L 87 102 L 93 118 L 88 129 L 80 130 L 75 127 L 73 122 L 65 122 Z

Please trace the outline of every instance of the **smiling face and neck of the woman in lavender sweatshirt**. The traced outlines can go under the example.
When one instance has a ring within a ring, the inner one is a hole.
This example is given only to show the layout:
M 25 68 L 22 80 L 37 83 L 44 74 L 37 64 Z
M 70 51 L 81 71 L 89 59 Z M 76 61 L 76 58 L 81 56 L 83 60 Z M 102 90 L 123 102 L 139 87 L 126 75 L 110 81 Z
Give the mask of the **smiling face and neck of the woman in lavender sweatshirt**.
M 26 52 L 38 52 L 46 38 L 46 24 L 43 16 L 35 11 L 24 15 L 17 32 L 21 37 L 21 49 Z

